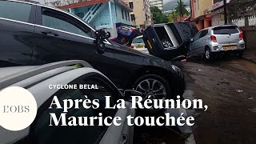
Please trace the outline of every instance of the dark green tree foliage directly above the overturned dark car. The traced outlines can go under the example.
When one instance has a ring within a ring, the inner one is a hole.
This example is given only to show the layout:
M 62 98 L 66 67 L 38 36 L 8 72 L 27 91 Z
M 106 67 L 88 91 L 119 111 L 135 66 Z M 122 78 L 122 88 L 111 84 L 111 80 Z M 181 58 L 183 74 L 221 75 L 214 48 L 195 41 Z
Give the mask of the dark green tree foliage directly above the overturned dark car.
M 153 15 L 154 24 L 167 23 L 169 21 L 166 15 L 162 14 L 162 10 L 159 10 L 157 6 L 151 6 L 150 11 Z

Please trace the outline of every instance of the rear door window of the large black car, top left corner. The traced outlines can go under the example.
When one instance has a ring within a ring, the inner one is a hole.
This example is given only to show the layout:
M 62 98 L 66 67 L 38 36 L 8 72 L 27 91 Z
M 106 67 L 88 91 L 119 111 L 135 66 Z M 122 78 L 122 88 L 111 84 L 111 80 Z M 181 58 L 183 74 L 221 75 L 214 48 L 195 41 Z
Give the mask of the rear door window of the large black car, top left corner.
M 31 5 L 21 2 L 0 1 L 0 17 L 29 22 Z

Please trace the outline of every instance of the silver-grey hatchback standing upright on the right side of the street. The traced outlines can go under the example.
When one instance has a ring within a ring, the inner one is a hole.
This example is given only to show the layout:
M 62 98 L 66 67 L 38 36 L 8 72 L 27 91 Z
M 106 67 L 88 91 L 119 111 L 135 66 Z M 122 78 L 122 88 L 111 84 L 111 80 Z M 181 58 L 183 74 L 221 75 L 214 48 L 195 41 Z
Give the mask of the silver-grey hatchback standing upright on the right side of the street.
M 235 52 L 242 57 L 245 50 L 242 31 L 238 26 L 213 26 L 201 30 L 191 39 L 191 55 L 202 55 L 206 59 L 214 58 L 215 54 Z

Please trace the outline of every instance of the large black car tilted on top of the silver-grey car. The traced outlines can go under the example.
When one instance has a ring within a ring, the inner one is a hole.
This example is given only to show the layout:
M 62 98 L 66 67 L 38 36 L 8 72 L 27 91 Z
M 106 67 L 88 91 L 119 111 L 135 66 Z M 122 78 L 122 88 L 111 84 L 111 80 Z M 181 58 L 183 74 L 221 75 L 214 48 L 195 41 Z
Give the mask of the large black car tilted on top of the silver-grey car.
M 0 1 L 0 66 L 80 59 L 119 88 L 134 88 L 145 95 L 154 94 L 155 98 L 183 94 L 185 82 L 177 66 L 96 37 L 97 33 L 64 10 L 30 2 Z

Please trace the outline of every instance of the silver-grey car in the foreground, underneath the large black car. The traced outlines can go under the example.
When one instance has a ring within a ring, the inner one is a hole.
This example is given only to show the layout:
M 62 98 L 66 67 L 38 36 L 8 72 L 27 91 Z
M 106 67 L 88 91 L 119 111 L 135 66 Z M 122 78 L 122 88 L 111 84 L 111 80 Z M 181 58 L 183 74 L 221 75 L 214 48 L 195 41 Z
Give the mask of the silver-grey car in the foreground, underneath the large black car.
M 74 67 L 82 64 L 82 68 Z M 97 85 L 98 89 L 50 89 L 50 85 Z M 118 116 L 126 120 L 126 116 L 135 116 L 135 110 L 131 109 L 131 103 L 126 102 L 126 109 L 105 109 L 105 96 L 111 96 L 110 105 L 114 106 L 118 99 L 129 99 L 129 94 L 139 94 L 133 90 L 125 90 L 124 94 L 110 82 L 98 70 L 94 70 L 90 64 L 83 61 L 54 62 L 43 66 L 14 66 L 0 68 L 0 90 L 8 86 L 20 86 L 29 90 L 38 105 L 38 113 L 34 122 L 24 130 L 10 131 L 0 126 L 0 143 L 133 143 L 134 126 L 125 124 L 120 126 L 49 126 L 50 113 L 59 117 L 61 109 L 49 109 L 54 96 L 58 99 L 85 99 L 85 95 L 91 101 L 98 99 L 102 107 L 95 110 L 70 109 L 69 116 L 98 117 L 102 113 L 103 118 L 107 116 Z M 63 106 L 63 101 L 59 101 Z M 81 114 L 81 115 L 79 115 Z

